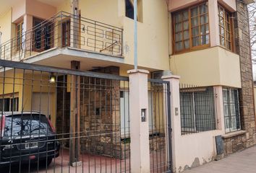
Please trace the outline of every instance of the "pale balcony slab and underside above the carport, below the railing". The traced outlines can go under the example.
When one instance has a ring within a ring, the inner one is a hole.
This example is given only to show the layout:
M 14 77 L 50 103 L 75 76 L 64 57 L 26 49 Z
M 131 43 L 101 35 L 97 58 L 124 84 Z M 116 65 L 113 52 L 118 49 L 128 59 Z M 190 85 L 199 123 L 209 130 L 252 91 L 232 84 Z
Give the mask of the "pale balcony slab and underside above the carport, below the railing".
M 24 63 L 35 63 L 59 68 L 70 68 L 71 61 L 80 61 L 81 70 L 91 70 L 104 66 L 123 66 L 124 58 L 109 56 L 75 48 L 52 48 L 30 58 Z

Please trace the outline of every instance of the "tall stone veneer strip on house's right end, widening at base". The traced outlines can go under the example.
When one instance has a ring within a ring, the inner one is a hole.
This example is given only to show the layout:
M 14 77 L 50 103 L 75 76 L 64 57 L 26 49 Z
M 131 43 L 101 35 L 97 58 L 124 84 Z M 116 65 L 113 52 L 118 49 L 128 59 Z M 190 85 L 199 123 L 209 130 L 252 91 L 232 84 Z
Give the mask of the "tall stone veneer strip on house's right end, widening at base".
M 250 53 L 249 20 L 247 5 L 236 1 L 237 12 L 234 18 L 235 48 L 240 55 L 242 89 L 239 89 L 242 130 L 239 136 L 223 138 L 224 155 L 248 148 L 255 144 L 255 107 L 252 85 L 252 58 Z

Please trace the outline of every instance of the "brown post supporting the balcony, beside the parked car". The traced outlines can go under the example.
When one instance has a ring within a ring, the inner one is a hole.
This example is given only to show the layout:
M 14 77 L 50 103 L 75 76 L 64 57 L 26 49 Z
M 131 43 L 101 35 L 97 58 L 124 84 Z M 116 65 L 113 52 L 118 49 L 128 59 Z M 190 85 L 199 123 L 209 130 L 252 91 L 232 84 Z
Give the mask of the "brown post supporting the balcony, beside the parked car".
M 71 68 L 80 69 L 79 61 L 71 61 Z M 80 161 L 80 76 L 71 76 L 70 89 L 70 127 L 69 127 L 69 163 L 72 167 L 82 164 Z

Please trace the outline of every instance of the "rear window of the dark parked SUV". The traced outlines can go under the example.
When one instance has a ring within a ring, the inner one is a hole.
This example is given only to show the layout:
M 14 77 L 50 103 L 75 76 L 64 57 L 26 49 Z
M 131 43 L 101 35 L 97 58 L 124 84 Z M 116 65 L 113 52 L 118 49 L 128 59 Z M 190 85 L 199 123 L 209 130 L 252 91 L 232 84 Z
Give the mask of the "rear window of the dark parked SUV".
M 5 118 L 4 136 L 30 136 L 51 134 L 45 115 L 23 114 Z

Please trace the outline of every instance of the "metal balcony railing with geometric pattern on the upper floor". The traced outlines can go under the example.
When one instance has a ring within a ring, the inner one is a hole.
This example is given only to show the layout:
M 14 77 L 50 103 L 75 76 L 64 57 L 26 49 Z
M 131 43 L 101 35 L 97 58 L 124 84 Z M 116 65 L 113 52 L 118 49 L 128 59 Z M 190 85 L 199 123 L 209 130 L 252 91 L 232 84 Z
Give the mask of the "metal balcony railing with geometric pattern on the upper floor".
M 122 56 L 123 30 L 67 12 L 40 22 L 30 30 L 2 43 L 0 58 L 23 61 L 52 48 L 80 50 Z

